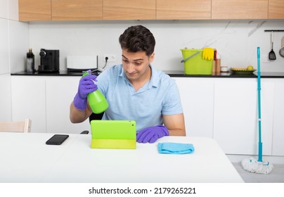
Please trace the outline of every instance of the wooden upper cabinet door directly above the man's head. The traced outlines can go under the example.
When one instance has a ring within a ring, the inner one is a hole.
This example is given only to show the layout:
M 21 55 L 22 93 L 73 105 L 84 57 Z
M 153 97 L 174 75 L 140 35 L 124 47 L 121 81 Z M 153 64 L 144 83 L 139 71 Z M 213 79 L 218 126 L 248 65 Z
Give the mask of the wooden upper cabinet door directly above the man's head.
M 155 19 L 155 0 L 103 0 L 103 20 Z

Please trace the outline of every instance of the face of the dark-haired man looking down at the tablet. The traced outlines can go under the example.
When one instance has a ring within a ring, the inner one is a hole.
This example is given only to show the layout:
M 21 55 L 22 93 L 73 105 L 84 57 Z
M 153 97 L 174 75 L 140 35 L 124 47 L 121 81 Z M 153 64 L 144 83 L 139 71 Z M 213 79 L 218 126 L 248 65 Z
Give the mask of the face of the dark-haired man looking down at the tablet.
M 122 65 L 130 82 L 143 80 L 150 73 L 150 63 L 154 59 L 154 53 L 148 57 L 145 51 L 136 53 L 122 49 Z

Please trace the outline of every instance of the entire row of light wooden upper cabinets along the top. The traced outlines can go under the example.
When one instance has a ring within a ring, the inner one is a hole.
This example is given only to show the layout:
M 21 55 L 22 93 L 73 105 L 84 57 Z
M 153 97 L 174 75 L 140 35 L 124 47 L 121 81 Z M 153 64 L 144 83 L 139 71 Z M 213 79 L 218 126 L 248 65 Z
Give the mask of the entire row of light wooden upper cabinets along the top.
M 19 20 L 284 19 L 284 0 L 18 0 Z

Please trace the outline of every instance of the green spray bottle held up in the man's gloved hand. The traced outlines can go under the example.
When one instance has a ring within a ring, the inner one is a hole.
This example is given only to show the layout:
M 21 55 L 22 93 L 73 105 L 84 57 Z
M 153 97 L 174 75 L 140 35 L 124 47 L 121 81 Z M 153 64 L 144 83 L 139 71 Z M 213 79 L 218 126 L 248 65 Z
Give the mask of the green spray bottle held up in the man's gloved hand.
M 89 72 L 84 72 L 82 77 L 86 75 L 90 75 Z M 108 109 L 108 101 L 98 89 L 88 94 L 88 100 L 93 113 L 103 113 Z

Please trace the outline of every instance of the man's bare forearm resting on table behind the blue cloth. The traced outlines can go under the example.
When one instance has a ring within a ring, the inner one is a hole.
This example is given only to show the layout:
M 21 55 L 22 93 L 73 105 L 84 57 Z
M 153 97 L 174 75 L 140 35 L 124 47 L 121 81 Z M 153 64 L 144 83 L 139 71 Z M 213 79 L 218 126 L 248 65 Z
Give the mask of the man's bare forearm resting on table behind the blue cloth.
M 164 126 L 169 130 L 169 136 L 186 136 L 183 113 L 163 115 Z

